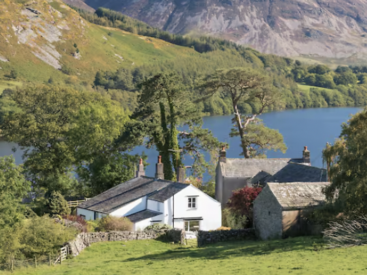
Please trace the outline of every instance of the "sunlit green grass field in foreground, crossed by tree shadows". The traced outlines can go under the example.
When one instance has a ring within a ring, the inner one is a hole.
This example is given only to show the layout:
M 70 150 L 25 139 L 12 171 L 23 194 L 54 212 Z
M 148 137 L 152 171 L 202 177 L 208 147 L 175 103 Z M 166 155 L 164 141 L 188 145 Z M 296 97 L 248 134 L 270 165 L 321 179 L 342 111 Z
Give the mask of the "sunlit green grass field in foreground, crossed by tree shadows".
M 220 243 L 206 248 L 155 240 L 93 244 L 55 267 L 14 275 L 366 274 L 367 247 L 314 250 L 315 238 Z M 0 273 L 10 274 L 10 273 Z

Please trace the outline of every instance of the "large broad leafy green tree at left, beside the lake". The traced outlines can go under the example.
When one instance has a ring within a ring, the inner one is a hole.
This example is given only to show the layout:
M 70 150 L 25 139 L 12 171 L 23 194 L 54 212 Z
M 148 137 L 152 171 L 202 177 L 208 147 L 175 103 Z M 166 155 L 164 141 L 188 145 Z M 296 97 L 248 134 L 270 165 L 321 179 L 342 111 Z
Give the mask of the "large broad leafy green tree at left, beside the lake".
M 70 88 L 33 86 L 6 93 L 16 108 L 3 114 L 1 133 L 24 149 L 27 176 L 46 194 L 73 195 L 76 166 L 107 151 L 127 120 L 101 95 Z

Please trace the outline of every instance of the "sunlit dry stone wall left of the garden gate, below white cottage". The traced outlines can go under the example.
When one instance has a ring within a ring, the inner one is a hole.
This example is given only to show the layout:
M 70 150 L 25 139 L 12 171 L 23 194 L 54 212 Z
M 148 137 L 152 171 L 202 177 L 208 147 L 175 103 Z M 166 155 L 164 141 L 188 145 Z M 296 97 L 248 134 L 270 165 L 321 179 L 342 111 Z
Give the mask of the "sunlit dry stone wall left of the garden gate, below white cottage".
M 149 240 L 161 236 L 165 236 L 171 242 L 181 244 L 184 243 L 185 239 L 184 230 L 182 229 L 80 233 L 68 243 L 69 253 L 76 256 L 92 243 Z

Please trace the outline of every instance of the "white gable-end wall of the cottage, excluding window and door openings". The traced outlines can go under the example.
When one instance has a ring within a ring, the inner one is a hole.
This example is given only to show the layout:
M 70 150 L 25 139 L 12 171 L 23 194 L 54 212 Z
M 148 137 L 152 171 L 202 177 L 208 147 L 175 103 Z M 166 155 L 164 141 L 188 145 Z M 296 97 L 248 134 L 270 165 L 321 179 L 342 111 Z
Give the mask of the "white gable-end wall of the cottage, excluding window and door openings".
M 196 196 L 196 208 L 188 208 L 188 198 Z M 193 185 L 189 185 L 164 202 L 165 223 L 172 226 L 174 201 L 174 227 L 184 229 L 185 218 L 200 218 L 200 230 L 214 230 L 222 226 L 221 203 L 206 195 Z

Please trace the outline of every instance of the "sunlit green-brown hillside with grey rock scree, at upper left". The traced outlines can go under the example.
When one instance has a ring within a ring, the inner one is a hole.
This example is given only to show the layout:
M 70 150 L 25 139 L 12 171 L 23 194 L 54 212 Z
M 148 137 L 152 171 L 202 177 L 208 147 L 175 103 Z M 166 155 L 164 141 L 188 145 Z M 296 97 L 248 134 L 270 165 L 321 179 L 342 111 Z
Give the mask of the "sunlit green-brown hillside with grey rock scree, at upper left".
M 60 1 L 0 2 L 0 79 L 92 84 L 96 71 L 198 54 L 155 38 L 97 26 Z M 5 84 L 2 83 L 4 86 Z

